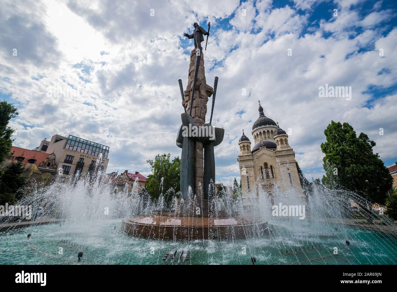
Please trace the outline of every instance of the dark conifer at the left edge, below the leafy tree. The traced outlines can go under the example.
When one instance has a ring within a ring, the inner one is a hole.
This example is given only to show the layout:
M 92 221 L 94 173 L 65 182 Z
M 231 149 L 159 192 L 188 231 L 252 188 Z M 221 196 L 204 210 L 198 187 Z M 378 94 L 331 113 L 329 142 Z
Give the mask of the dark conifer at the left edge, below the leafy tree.
M 0 177 L 0 205 L 13 204 L 22 197 L 22 187 L 26 178 L 22 176 L 25 168 L 18 161 L 10 164 Z

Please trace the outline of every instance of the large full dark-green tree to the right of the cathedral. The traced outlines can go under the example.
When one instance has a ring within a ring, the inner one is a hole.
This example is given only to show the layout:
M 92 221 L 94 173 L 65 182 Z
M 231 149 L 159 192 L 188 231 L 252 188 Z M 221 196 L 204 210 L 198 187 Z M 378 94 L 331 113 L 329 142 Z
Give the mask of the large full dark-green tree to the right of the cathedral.
M 321 144 L 324 152 L 326 175 L 322 183 L 327 187 L 341 187 L 356 192 L 370 202 L 384 204 L 392 178 L 378 153 L 376 145 L 364 133 L 356 135 L 349 123 L 334 122 L 324 130 L 326 142 Z

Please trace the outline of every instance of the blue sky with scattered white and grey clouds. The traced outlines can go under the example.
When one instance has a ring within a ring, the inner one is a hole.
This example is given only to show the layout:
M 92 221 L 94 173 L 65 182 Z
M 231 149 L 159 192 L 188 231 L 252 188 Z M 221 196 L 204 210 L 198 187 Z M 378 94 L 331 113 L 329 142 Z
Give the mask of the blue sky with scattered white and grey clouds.
M 110 147 L 108 172 L 143 175 L 156 154 L 180 156 L 178 79 L 187 85 L 194 46 L 183 33 L 194 22 L 211 23 L 207 83 L 219 77 L 217 182 L 239 179 L 238 140 L 244 129 L 253 142 L 258 100 L 309 180 L 324 174 L 331 120 L 368 134 L 385 166 L 397 161 L 393 0 L 2 1 L 0 99 L 19 109 L 13 145 L 71 134 Z M 326 84 L 351 95 L 321 96 Z

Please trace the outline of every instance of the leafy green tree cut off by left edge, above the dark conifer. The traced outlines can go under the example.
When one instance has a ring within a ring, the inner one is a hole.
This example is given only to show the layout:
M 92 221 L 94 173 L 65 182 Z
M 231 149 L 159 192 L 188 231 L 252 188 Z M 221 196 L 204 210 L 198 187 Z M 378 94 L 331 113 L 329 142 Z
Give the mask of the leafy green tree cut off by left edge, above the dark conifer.
M 5 100 L 0 101 L 0 163 L 6 160 L 10 154 L 12 142 L 12 134 L 15 132 L 14 129 L 8 127 L 10 119 L 18 115 L 18 110 Z

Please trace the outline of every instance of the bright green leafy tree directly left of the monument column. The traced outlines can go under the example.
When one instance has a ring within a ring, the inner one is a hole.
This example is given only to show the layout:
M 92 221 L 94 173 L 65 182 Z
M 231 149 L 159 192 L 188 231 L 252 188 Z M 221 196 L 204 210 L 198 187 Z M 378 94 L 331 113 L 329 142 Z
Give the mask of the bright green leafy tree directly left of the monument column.
M 150 175 L 145 187 L 152 200 L 158 200 L 164 195 L 166 204 L 169 204 L 172 197 L 180 190 L 181 160 L 175 157 L 170 160 L 171 154 L 157 154 L 154 160 L 146 160 L 150 164 Z

